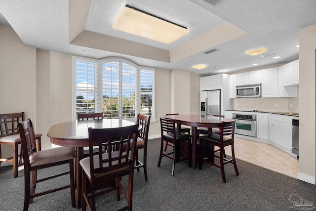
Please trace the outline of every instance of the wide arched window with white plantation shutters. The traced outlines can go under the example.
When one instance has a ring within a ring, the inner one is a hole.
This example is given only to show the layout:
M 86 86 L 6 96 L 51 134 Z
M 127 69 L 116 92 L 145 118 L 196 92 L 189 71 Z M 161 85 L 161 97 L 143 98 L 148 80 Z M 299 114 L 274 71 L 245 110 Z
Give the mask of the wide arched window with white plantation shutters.
M 155 120 L 155 69 L 122 58 L 74 57 L 75 117 L 103 112 L 103 118 L 134 119 L 138 113 Z

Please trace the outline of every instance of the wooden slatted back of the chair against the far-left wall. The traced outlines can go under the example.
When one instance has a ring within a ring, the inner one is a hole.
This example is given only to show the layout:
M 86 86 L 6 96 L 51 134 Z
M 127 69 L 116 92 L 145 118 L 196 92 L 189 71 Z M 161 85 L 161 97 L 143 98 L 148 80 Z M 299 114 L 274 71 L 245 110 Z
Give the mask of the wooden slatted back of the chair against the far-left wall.
M 24 112 L 0 114 L 0 137 L 19 134 L 18 123 L 24 121 Z

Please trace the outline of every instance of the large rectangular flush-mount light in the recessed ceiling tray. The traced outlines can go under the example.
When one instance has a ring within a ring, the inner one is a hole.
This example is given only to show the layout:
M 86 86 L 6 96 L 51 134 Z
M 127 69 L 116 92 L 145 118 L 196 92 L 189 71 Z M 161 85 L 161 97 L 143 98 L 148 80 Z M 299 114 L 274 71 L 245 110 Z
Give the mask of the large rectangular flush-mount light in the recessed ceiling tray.
M 189 33 L 183 26 L 129 5 L 122 9 L 112 28 L 165 44 L 170 44 Z

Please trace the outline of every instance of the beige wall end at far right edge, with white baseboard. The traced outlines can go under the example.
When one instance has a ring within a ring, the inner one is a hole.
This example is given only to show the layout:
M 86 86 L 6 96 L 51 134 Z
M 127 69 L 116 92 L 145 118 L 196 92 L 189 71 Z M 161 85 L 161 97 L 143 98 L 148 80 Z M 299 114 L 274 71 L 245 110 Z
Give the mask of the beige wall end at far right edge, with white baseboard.
M 300 30 L 300 133 L 298 178 L 315 184 L 316 177 L 316 24 Z

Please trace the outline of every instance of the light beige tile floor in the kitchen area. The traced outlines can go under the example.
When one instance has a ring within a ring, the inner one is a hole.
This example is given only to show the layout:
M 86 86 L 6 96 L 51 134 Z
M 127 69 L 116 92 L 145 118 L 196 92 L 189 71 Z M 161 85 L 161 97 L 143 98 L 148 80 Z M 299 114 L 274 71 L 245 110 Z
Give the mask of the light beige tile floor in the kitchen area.
M 230 147 L 225 152 L 231 155 Z M 235 137 L 235 156 L 257 166 L 296 178 L 298 159 L 270 144 Z

